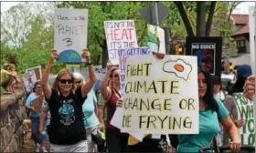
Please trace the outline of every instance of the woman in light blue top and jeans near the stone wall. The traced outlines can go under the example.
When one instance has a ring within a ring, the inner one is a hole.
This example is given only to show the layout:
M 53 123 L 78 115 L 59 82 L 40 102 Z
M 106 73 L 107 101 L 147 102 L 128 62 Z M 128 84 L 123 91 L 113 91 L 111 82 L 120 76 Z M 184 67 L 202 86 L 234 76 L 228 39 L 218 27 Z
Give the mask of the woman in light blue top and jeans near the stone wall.
M 30 110 L 30 119 L 32 122 L 32 138 L 37 144 L 36 152 L 40 151 L 48 152 L 43 145 L 43 138 L 39 132 L 39 118 L 41 116 L 40 106 L 44 100 L 42 86 L 39 82 L 36 82 L 33 88 L 33 92 L 27 97 L 25 107 Z M 44 124 L 46 128 L 46 124 Z

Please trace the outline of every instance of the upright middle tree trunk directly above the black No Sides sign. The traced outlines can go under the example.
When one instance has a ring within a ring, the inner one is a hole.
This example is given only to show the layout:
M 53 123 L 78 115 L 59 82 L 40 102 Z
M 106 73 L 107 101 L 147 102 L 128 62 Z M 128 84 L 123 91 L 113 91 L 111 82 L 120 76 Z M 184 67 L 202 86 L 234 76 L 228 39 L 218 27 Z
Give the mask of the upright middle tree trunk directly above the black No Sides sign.
M 205 36 L 206 28 L 206 4 L 197 1 L 197 36 Z

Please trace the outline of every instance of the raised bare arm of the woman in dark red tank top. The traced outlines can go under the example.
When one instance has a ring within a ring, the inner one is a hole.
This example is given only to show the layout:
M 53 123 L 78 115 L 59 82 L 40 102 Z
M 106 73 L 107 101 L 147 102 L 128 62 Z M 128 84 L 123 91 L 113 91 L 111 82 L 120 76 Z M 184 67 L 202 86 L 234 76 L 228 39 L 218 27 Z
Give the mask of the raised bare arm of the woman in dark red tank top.
M 111 68 L 112 68 L 112 63 L 110 60 L 108 60 L 107 66 L 106 66 L 106 71 L 105 74 L 102 76 L 101 80 L 101 85 L 100 85 L 100 91 L 101 91 L 101 96 L 105 99 L 105 102 L 107 102 L 110 97 L 111 97 L 111 88 L 108 86 L 110 74 L 111 74 Z

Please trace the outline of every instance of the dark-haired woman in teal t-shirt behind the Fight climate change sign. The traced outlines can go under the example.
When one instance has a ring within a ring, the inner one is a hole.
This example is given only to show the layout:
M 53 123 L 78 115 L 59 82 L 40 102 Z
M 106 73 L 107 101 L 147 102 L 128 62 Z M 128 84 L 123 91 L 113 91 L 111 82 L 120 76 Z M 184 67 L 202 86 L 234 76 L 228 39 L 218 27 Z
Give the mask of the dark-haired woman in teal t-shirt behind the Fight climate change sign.
M 159 56 L 159 55 L 155 55 Z M 160 58 L 163 56 L 160 55 Z M 177 152 L 198 152 L 209 147 L 211 140 L 219 133 L 219 121 L 229 132 L 232 139 L 230 148 L 240 150 L 239 131 L 229 117 L 229 111 L 223 103 L 213 96 L 210 74 L 202 66 L 197 66 L 199 97 L 199 133 L 195 135 L 177 135 Z M 172 142 L 172 140 L 171 140 Z

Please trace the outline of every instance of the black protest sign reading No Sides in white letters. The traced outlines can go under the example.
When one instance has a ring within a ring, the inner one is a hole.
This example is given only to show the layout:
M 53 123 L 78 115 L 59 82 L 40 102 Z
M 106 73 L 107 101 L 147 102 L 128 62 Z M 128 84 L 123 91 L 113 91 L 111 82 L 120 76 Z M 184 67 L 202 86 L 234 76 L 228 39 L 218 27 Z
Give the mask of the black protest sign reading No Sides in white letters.
M 203 65 L 212 75 L 220 77 L 222 37 L 187 37 L 187 56 L 197 56 L 198 65 Z

